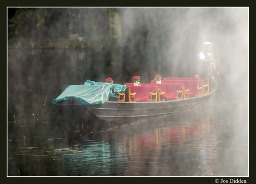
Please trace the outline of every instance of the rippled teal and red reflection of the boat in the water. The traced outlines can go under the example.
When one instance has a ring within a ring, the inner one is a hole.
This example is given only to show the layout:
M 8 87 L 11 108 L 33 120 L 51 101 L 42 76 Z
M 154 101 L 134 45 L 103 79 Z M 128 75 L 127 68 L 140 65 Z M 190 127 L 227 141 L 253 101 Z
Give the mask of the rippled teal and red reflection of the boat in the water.
M 184 116 L 184 114 L 183 114 Z M 110 126 L 97 140 L 76 144 L 62 152 L 65 175 L 71 176 L 204 176 L 218 175 L 218 126 L 209 116 L 189 121 L 191 113 L 166 116 L 160 121 L 137 121 Z M 177 119 L 179 118 L 179 120 Z M 169 121 L 168 121 L 169 119 Z M 58 155 L 58 151 L 56 152 Z

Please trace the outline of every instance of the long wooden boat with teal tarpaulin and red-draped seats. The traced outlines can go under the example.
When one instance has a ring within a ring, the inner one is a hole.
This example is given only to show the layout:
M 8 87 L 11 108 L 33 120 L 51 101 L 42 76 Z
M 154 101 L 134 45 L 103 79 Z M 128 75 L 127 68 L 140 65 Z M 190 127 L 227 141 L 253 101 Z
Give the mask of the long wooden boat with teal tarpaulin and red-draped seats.
M 217 89 L 209 88 L 209 78 L 164 78 L 161 82 L 134 86 L 87 80 L 68 86 L 53 105 L 63 116 L 83 124 L 109 125 L 200 109 L 212 103 Z M 189 84 L 194 86 L 188 89 Z

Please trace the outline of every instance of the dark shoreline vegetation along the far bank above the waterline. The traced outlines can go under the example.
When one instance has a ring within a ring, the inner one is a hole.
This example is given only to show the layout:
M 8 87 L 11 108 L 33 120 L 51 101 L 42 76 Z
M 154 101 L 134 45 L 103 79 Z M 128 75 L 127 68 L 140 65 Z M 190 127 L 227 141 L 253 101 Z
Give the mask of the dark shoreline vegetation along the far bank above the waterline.
M 131 9 L 140 19 L 131 28 L 124 8 L 8 8 L 8 48 L 156 47 L 166 39 L 152 23 L 157 9 Z M 149 24 L 149 25 L 146 25 Z M 149 26 L 152 30 L 149 30 Z M 129 30 L 129 31 L 128 31 Z M 162 45 L 161 45 L 162 46 Z

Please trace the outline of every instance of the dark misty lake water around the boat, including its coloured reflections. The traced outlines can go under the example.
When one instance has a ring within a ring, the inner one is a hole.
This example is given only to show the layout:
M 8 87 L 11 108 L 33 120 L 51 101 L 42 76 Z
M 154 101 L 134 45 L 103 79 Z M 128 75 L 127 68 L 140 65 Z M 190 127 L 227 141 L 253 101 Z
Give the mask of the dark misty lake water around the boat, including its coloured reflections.
M 145 69 L 150 83 L 158 73 L 155 58 L 139 69 L 126 59 L 124 50 L 9 49 L 7 176 L 248 176 L 248 111 L 221 93 L 204 109 L 97 131 L 53 108 L 70 84 L 123 84 Z

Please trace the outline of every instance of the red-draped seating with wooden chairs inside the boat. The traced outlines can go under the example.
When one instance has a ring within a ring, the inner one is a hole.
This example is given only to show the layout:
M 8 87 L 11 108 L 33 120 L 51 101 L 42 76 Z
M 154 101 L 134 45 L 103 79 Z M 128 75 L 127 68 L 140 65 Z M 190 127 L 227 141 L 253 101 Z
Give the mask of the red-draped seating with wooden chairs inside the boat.
M 119 96 L 119 101 L 165 101 L 193 98 L 209 93 L 209 78 L 164 78 L 161 84 L 156 84 L 156 80 L 152 80 L 151 84 L 125 85 L 129 86 L 129 89 L 122 97 Z

